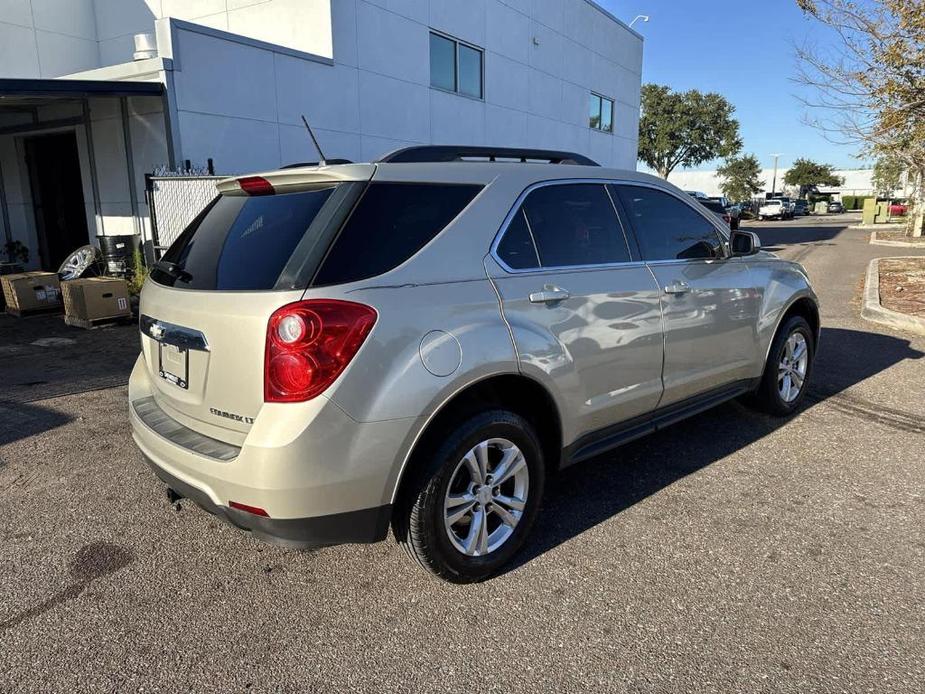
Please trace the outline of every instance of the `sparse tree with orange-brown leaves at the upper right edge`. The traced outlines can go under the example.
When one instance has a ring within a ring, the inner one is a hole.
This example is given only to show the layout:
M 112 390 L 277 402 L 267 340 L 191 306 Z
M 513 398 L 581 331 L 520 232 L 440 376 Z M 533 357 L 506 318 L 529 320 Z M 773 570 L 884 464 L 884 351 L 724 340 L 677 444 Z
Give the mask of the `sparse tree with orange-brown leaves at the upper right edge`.
M 861 154 L 905 164 L 915 198 L 911 233 L 925 228 L 925 2 L 796 0 L 829 39 L 797 48 L 810 122 Z

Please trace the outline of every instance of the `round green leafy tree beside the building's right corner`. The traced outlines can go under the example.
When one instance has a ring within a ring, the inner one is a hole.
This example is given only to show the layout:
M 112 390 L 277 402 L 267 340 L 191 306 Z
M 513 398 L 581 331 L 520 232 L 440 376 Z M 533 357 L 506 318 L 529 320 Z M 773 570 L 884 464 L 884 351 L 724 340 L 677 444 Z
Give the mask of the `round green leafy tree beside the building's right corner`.
M 639 120 L 639 160 L 668 178 L 678 166 L 691 167 L 742 149 L 735 108 L 720 94 L 696 89 L 675 92 L 646 84 Z

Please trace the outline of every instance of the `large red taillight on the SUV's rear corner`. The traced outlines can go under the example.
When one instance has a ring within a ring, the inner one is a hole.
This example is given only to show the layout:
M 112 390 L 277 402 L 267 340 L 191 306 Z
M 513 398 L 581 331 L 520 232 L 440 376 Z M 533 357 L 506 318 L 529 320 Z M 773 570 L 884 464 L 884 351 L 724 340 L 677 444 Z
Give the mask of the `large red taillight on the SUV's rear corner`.
M 265 402 L 302 402 L 330 386 L 359 351 L 376 311 L 352 301 L 309 299 L 278 309 L 267 324 Z

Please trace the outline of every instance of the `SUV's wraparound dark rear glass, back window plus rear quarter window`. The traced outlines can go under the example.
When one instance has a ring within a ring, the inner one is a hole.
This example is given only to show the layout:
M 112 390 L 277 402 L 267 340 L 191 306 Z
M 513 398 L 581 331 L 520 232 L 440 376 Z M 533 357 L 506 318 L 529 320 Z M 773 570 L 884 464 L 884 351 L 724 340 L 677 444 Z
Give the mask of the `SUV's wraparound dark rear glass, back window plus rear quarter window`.
M 185 289 L 261 291 L 374 277 L 414 255 L 480 189 L 335 183 L 219 196 L 154 265 L 151 278 Z

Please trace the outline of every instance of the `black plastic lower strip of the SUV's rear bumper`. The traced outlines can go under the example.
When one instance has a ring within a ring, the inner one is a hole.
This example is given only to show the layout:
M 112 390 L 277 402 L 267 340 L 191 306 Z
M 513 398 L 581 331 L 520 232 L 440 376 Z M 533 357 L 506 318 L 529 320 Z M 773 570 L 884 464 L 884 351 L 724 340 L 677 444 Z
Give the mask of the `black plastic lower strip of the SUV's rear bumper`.
M 150 458 L 145 457 L 145 461 L 154 474 L 178 496 L 195 502 L 203 510 L 252 533 L 254 537 L 275 545 L 307 549 L 344 543 L 379 542 L 385 539 L 389 530 L 392 516 L 390 504 L 313 518 L 265 518 L 220 506 L 208 494 L 174 477 Z

